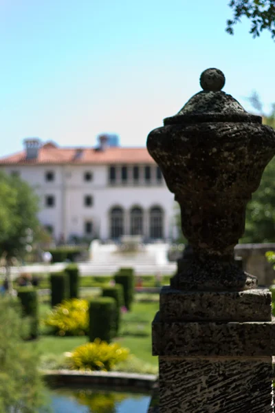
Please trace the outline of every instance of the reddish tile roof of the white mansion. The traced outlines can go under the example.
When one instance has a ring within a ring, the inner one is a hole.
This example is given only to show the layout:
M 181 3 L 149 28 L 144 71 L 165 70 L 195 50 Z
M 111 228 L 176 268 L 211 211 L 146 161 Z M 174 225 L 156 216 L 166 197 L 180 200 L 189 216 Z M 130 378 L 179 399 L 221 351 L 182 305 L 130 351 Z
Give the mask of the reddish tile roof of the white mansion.
M 0 158 L 0 165 L 43 165 L 43 164 L 154 164 L 146 148 L 107 147 L 103 151 L 95 148 L 61 148 L 46 142 L 39 149 L 36 159 L 27 160 L 26 152 L 21 151 Z

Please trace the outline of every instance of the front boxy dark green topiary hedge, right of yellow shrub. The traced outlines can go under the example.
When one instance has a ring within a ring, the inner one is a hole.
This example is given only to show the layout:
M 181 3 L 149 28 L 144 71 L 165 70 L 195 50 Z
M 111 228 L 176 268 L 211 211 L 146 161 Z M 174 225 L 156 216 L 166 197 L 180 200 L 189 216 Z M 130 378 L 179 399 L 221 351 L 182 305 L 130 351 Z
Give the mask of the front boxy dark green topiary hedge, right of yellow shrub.
M 111 341 L 115 330 L 115 299 L 97 297 L 89 304 L 89 339 Z

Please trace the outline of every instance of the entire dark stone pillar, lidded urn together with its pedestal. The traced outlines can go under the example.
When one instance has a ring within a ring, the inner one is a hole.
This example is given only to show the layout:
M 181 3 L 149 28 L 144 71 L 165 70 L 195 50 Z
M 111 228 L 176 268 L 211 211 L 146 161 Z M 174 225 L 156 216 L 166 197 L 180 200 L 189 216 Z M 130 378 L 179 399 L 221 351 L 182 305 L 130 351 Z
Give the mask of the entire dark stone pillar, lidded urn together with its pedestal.
M 234 261 L 234 246 L 275 132 L 221 92 L 224 83 L 221 71 L 203 72 L 203 91 L 147 140 L 192 248 L 153 321 L 160 413 L 274 412 L 271 295 Z

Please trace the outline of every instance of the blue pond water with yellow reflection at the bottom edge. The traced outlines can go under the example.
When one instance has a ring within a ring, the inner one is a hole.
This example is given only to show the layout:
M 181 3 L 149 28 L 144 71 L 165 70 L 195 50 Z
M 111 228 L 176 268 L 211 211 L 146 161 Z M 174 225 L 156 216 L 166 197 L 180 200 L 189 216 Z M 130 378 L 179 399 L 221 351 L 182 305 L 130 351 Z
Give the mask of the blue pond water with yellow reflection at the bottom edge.
M 50 392 L 51 413 L 146 413 L 150 399 L 146 394 L 90 389 Z

